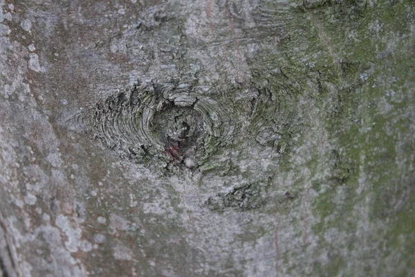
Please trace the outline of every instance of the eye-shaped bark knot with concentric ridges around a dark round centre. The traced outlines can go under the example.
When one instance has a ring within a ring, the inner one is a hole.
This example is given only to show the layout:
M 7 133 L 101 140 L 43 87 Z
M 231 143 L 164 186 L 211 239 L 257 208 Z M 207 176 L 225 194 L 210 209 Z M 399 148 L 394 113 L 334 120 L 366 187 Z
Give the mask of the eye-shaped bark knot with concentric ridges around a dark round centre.
M 94 138 L 137 161 L 167 158 L 192 168 L 233 130 L 219 102 L 186 84 L 133 85 L 86 109 L 82 119 Z

